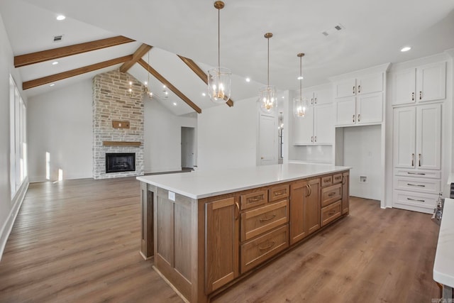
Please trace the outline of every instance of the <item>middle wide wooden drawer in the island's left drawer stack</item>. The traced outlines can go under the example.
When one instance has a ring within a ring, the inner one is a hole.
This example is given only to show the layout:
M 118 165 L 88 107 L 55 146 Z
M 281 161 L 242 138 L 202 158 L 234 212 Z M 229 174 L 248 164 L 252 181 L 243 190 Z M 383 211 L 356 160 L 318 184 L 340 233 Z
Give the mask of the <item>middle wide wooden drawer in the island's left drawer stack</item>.
M 289 221 L 289 200 L 269 204 L 241 214 L 241 241 L 270 231 Z

